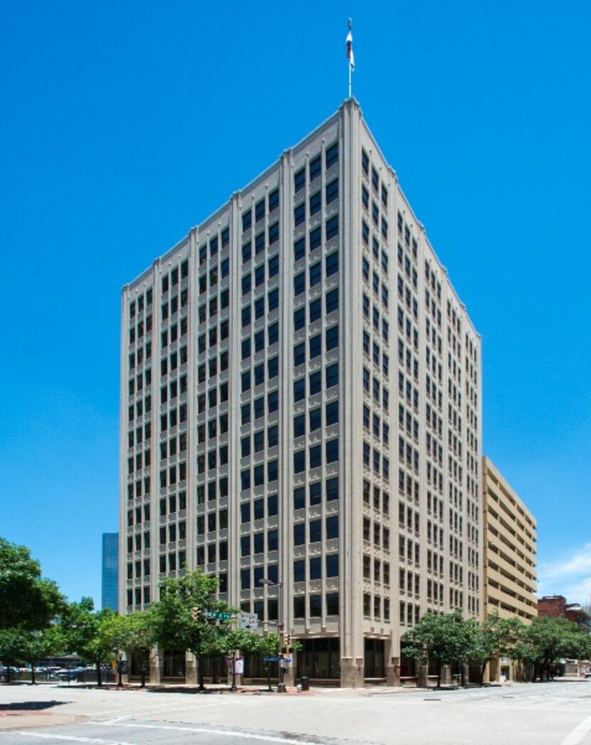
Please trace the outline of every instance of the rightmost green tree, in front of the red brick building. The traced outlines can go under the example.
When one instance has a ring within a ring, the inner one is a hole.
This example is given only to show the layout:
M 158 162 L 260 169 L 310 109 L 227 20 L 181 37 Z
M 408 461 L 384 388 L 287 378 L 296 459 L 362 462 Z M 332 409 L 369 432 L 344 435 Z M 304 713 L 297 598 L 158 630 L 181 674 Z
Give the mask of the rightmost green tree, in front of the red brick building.
M 534 618 L 513 648 L 515 659 L 534 666 L 533 679 L 549 676 L 563 657 L 581 658 L 588 651 L 589 634 L 567 618 Z

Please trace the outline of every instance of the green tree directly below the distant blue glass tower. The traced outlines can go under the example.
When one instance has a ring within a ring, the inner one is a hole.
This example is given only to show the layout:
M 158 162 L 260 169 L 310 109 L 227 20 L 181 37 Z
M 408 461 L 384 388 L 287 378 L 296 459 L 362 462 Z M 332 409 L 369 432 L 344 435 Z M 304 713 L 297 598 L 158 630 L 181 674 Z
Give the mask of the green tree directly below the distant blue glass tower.
M 111 615 L 109 608 L 95 611 L 92 597 L 83 597 L 80 603 L 68 603 L 57 627 L 61 646 L 95 665 L 97 685 L 102 685 L 101 665 L 113 657 L 115 649 L 112 640 L 101 633 L 101 624 Z

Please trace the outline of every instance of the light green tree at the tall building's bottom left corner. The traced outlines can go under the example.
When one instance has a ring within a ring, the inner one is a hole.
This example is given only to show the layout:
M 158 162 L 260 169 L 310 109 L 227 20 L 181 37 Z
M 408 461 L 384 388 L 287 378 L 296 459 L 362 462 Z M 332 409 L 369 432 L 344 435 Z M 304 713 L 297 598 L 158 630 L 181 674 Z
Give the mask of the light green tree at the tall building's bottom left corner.
M 127 659 L 131 658 L 136 662 L 144 688 L 157 642 L 154 611 L 148 609 L 130 615 L 107 616 L 101 622 L 100 634 L 108 646 L 124 651 Z

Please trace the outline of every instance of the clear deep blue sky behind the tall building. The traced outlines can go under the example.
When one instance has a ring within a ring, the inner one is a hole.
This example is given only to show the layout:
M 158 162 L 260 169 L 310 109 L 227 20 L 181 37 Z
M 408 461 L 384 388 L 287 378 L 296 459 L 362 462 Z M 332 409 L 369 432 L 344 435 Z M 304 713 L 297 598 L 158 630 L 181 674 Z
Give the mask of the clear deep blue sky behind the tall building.
M 0 535 L 100 602 L 120 289 L 354 94 L 481 332 L 484 451 L 591 594 L 591 6 L 0 9 Z

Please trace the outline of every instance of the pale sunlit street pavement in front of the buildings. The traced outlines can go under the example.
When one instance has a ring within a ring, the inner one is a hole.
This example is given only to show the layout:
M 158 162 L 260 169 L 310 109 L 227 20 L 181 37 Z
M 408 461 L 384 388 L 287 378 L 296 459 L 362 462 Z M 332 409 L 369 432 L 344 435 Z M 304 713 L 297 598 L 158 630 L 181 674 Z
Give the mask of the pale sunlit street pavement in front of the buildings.
M 591 679 L 309 694 L 0 686 L 0 745 L 591 745 Z

